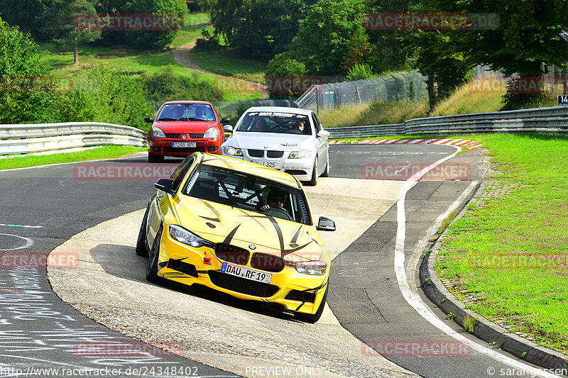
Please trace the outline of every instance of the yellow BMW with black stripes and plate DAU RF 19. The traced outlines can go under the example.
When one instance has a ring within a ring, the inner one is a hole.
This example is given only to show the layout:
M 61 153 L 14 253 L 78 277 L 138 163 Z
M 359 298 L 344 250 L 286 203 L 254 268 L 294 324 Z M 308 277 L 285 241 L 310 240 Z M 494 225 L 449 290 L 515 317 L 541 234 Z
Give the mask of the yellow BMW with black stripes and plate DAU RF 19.
M 302 184 L 290 174 L 197 152 L 158 189 L 144 214 L 136 253 L 146 279 L 201 284 L 241 299 L 273 302 L 315 323 L 331 260 Z

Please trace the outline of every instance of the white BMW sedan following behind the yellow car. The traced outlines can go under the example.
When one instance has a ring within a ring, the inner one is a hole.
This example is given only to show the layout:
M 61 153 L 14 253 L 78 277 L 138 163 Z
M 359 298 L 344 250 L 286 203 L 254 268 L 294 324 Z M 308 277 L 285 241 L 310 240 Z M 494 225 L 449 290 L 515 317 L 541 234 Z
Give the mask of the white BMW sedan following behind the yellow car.
M 313 111 L 278 106 L 247 109 L 221 154 L 293 174 L 308 185 L 329 174 L 329 131 Z

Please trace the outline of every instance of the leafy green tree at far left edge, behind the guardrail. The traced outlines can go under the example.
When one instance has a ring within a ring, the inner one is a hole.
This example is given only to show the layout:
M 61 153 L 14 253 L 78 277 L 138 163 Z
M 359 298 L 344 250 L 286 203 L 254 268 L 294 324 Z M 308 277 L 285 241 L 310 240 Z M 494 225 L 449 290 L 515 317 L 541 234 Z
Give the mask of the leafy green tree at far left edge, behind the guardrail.
M 56 83 L 36 53 L 31 36 L 0 18 L 0 123 L 53 120 Z

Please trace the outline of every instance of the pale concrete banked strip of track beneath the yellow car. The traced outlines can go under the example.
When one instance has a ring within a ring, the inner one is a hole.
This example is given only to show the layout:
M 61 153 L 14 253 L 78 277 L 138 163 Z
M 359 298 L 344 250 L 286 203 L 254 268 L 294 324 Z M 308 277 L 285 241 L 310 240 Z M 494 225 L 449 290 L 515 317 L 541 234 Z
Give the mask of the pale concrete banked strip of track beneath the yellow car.
M 334 233 L 320 233 L 332 258 L 395 203 L 401 184 L 326 178 L 307 188 L 315 216 L 325 213 L 337 223 Z M 112 330 L 153 344 L 181 343 L 182 356 L 244 377 L 258 377 L 255 367 L 290 369 L 293 377 L 416 377 L 368 355 L 329 307 L 307 324 L 216 291 L 146 282 L 147 259 L 133 247 L 142 216 L 143 210 L 126 214 L 60 245 L 54 252 L 76 253 L 80 265 L 48 268 L 53 291 Z

